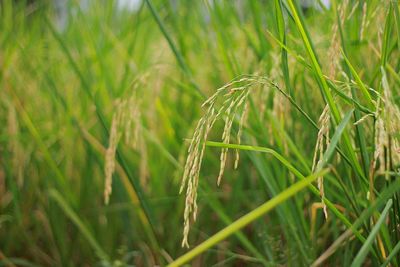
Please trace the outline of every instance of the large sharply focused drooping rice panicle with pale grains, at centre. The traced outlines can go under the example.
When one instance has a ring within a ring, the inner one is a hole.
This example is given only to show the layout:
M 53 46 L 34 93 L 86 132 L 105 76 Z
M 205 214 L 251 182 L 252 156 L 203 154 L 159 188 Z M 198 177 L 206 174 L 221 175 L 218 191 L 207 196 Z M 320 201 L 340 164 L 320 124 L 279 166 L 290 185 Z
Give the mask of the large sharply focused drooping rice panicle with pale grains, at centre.
M 236 117 L 239 117 L 239 131 L 237 133 L 237 142 L 240 143 L 242 127 L 247 116 L 247 101 L 250 90 L 257 85 L 264 86 L 271 84 L 270 80 L 262 76 L 243 76 L 235 79 L 217 91 L 208 98 L 202 105 L 207 107 L 206 113 L 200 118 L 191 139 L 180 193 L 186 188 L 185 211 L 184 211 L 184 229 L 182 246 L 189 247 L 188 235 L 190 230 L 190 218 L 196 221 L 197 216 L 197 188 L 199 184 L 199 175 L 204 156 L 206 141 L 215 122 L 222 118 L 224 120 L 224 129 L 222 133 L 222 142 L 229 144 L 231 139 L 232 125 Z M 220 107 L 217 107 L 221 104 Z M 220 184 L 224 174 L 228 148 L 222 148 L 220 154 L 220 170 L 217 177 L 217 185 Z M 236 151 L 235 167 L 238 166 L 239 156 Z

